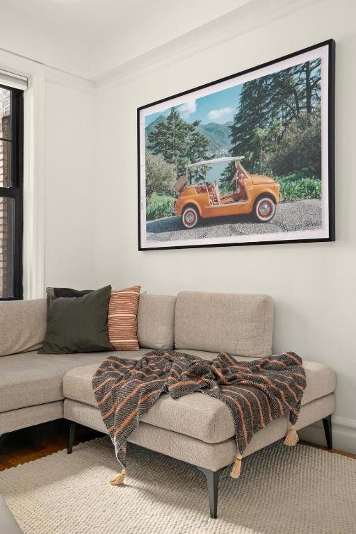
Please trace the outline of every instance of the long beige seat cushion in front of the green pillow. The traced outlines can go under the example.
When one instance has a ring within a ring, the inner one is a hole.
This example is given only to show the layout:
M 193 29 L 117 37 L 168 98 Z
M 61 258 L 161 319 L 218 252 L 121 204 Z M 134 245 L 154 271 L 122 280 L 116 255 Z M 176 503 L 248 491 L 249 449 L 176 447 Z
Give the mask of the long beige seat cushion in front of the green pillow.
M 148 350 L 143 348 L 135 355 L 140 357 L 139 354 Z M 113 354 L 117 353 L 44 355 L 32 352 L 3 356 L 0 358 L 0 412 L 62 400 L 63 377 L 67 371 L 88 364 L 94 364 L 96 369 Z M 132 356 L 131 352 L 118 354 Z

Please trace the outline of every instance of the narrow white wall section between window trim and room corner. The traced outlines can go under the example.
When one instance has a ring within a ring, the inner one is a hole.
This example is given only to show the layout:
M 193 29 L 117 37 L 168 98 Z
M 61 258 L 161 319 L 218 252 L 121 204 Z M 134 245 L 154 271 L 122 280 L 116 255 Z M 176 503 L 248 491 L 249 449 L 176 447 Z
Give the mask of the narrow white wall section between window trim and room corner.
M 47 81 L 44 284 L 93 283 L 94 97 Z

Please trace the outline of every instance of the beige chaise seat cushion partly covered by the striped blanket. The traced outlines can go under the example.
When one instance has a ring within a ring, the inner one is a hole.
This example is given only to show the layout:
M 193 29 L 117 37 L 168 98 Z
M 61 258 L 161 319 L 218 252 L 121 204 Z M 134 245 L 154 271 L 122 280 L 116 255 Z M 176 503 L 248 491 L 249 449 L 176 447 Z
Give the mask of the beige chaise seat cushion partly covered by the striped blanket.
M 195 353 L 196 351 L 186 351 Z M 211 355 L 200 352 L 201 357 L 212 359 Z M 138 359 L 138 358 L 136 358 Z M 248 358 L 241 358 L 248 359 Z M 307 387 L 302 404 L 309 403 L 315 398 L 330 394 L 335 387 L 335 373 L 331 369 L 316 364 L 304 362 L 307 375 Z M 67 372 L 63 379 L 63 394 L 65 398 L 80 401 L 91 406 L 97 406 L 92 391 L 92 375 L 97 366 L 88 365 L 78 367 Z M 168 394 L 162 394 L 152 408 L 140 418 L 159 428 L 173 430 L 207 443 L 220 443 L 234 435 L 234 421 L 229 408 L 216 398 L 193 393 L 178 399 L 172 399 Z

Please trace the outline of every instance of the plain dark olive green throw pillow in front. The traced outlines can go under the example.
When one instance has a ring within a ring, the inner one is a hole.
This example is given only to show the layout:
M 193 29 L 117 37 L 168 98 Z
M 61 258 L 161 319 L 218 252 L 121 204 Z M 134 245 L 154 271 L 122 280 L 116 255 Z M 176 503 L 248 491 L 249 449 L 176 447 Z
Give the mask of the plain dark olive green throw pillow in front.
M 47 331 L 40 354 L 113 350 L 108 339 L 111 286 L 81 297 L 49 297 Z

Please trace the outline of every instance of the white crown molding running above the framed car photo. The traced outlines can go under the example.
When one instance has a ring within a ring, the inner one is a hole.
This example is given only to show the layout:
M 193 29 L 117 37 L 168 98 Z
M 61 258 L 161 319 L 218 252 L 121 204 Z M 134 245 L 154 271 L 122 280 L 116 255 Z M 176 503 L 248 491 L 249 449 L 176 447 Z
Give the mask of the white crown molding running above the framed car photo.
M 90 81 L 97 92 L 216 47 L 322 0 L 252 0 L 235 10 L 137 56 Z

